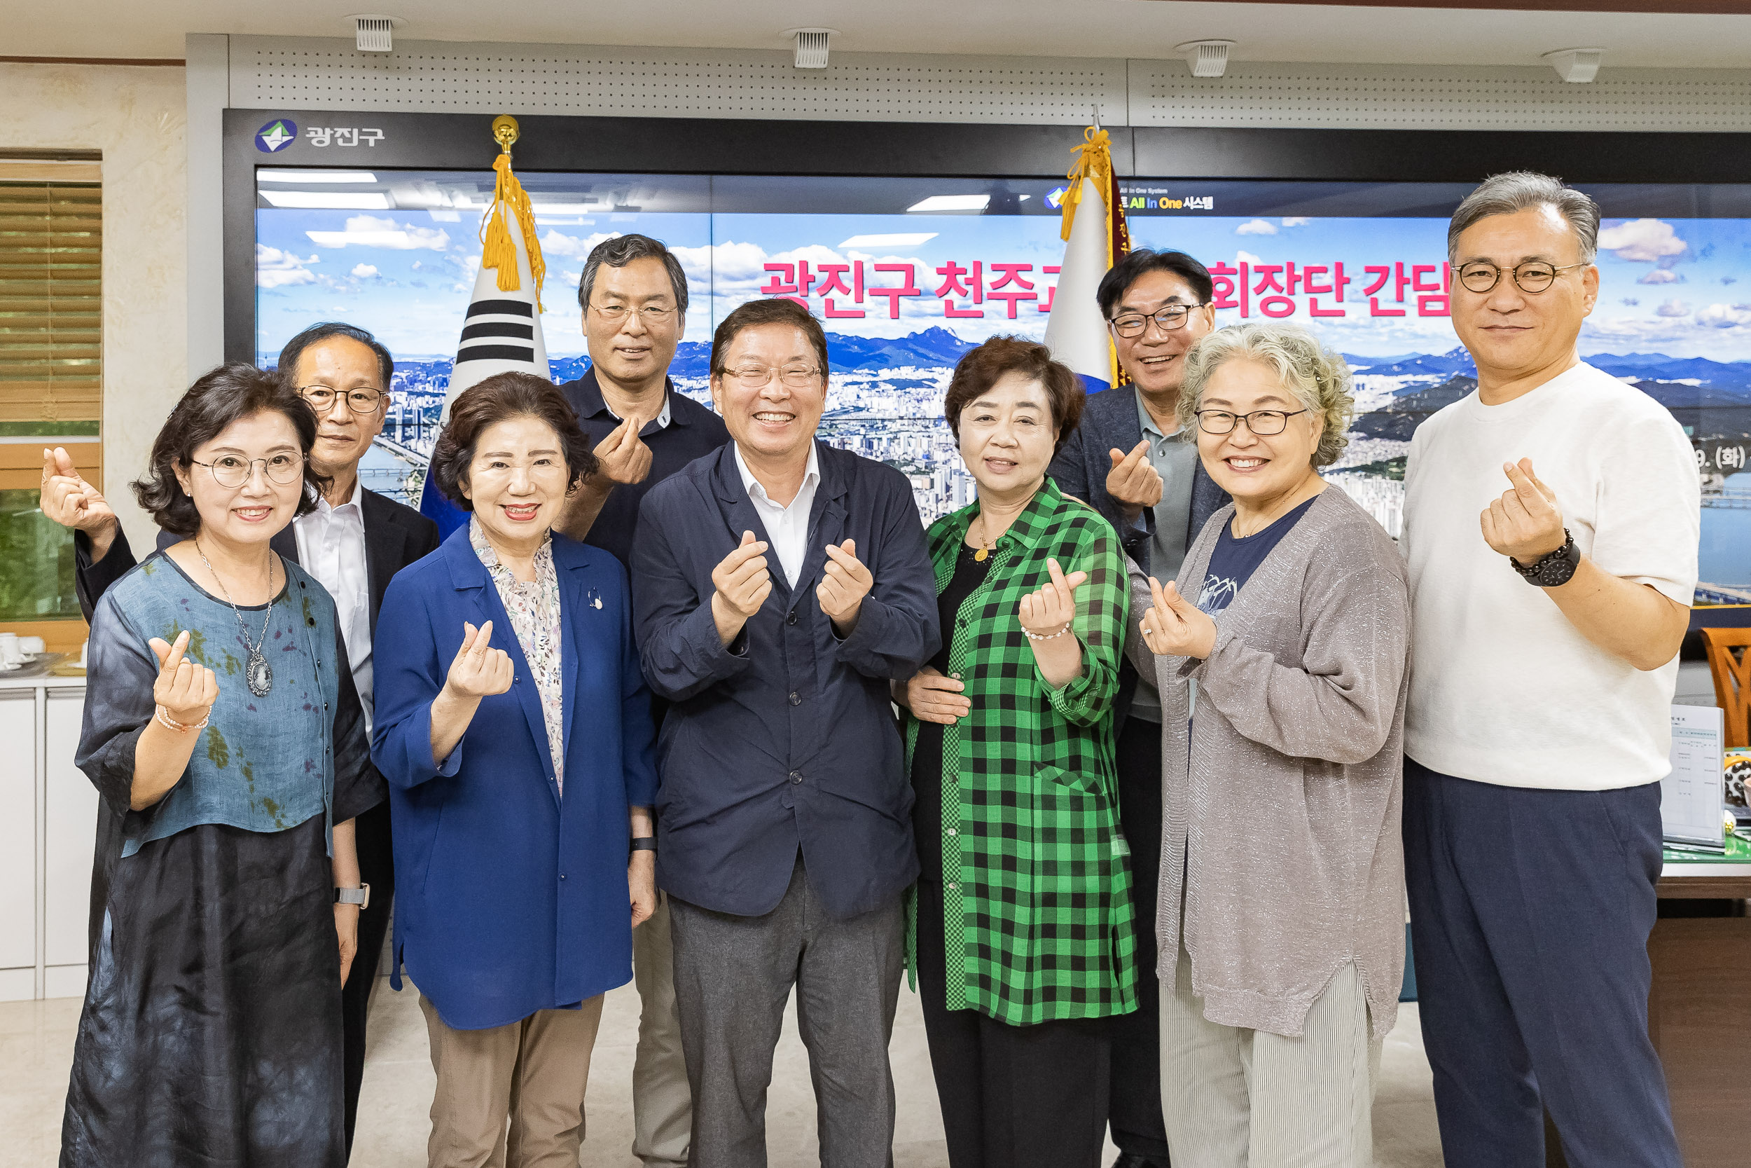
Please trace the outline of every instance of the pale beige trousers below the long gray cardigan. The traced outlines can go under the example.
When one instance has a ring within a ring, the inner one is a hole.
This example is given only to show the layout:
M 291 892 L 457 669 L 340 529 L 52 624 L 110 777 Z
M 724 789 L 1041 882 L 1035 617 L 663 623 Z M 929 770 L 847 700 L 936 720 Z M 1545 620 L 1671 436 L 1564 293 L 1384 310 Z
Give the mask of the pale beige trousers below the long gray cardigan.
M 1175 1168 L 1373 1168 L 1380 1042 L 1355 965 L 1313 1002 L 1299 1038 L 1203 1016 L 1180 946 L 1161 993 L 1161 1115 Z

